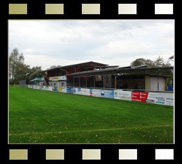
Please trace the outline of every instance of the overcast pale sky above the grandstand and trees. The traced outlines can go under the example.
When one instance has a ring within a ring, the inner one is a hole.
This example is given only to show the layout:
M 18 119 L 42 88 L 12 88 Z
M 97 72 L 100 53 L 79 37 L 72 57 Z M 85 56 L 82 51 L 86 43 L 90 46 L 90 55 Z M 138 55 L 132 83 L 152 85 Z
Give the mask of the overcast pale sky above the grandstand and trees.
M 30 67 L 95 61 L 128 66 L 174 55 L 174 20 L 11 20 L 9 53 Z M 172 64 L 172 63 L 171 63 Z

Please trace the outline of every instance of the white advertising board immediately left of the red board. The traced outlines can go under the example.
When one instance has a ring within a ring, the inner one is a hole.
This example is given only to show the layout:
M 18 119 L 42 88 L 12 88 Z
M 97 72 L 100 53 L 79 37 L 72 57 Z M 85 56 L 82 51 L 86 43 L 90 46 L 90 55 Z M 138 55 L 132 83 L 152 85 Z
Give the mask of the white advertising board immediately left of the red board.
M 131 101 L 131 91 L 114 90 L 114 98 Z

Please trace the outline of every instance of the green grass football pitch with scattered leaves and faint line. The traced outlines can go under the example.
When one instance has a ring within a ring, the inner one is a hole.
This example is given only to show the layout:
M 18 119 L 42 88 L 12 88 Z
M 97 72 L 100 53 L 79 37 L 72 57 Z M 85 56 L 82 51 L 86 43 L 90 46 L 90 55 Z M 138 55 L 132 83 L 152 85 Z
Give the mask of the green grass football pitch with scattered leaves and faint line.
M 10 86 L 9 143 L 173 143 L 173 107 Z

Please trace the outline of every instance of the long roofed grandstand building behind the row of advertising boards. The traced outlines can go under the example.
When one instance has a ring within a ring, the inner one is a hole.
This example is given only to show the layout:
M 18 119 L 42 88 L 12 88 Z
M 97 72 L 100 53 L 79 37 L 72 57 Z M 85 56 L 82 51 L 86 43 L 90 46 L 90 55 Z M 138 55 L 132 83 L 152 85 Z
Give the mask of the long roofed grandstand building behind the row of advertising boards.
M 44 85 L 58 87 L 115 88 L 165 91 L 173 67 L 119 67 L 84 62 L 44 70 Z

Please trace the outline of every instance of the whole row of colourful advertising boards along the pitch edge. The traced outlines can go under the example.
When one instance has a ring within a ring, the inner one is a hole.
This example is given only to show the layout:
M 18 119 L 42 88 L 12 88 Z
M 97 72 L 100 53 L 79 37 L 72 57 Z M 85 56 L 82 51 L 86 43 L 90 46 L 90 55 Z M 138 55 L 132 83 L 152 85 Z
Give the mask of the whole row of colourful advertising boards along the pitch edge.
M 138 91 L 123 91 L 123 90 L 101 90 L 73 87 L 52 87 L 28 85 L 28 88 L 42 89 L 47 91 L 56 91 L 62 93 L 80 94 L 93 97 L 115 98 L 121 100 L 146 102 L 153 104 L 174 105 L 173 93 L 158 93 L 158 92 L 138 92 Z

